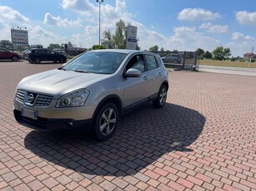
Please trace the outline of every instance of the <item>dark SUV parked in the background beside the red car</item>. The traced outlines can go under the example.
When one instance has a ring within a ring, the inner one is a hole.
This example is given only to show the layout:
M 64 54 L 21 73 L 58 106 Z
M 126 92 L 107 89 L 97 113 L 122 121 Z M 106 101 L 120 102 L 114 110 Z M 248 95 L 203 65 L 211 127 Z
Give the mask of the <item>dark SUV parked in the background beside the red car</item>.
M 24 59 L 30 63 L 39 64 L 41 61 L 53 61 L 63 63 L 67 61 L 67 57 L 63 54 L 56 53 L 47 48 L 34 48 L 24 53 Z

